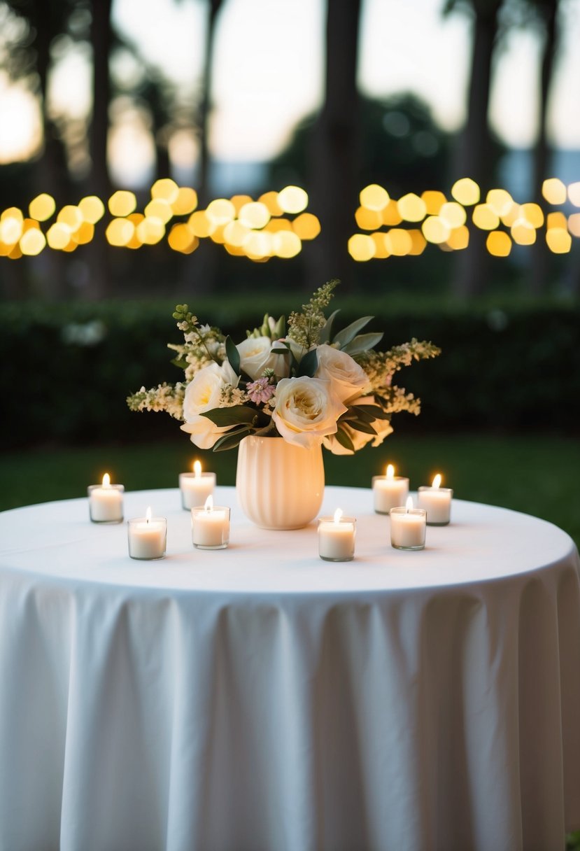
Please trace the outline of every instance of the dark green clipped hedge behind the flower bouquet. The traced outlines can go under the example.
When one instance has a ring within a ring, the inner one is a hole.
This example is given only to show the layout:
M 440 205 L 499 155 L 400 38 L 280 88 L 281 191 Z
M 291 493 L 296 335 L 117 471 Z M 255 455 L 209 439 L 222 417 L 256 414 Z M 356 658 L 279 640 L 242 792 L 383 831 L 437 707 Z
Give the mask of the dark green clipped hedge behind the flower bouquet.
M 256 310 L 259 301 L 260 309 Z M 263 306 L 262 306 L 263 305 Z M 265 310 L 288 312 L 296 294 L 264 300 L 190 301 L 202 322 L 234 340 L 245 338 Z M 341 298 L 344 323 L 360 314 L 360 298 Z M 477 308 L 424 300 L 368 297 L 371 329 L 384 343 L 412 336 L 443 353 L 418 363 L 397 383 L 423 400 L 420 417 L 402 417 L 401 431 L 552 431 L 578 434 L 580 304 L 541 306 L 492 302 Z M 9 303 L 0 317 L 4 448 L 42 443 L 133 442 L 174 434 L 169 417 L 131 414 L 125 404 L 142 385 L 179 380 L 168 342 L 180 334 L 170 302 L 95 305 Z M 12 400 L 12 401 L 10 401 Z M 23 415 L 26 409 L 27 415 Z

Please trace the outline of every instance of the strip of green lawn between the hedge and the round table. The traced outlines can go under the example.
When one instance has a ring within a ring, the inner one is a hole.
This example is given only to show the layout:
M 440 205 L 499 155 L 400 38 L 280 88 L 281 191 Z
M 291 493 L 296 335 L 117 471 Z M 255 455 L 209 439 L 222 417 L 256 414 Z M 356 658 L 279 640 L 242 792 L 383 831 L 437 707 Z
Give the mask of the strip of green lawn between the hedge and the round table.
M 200 452 L 179 432 L 171 443 L 3 453 L 0 509 L 83 496 L 105 471 L 128 490 L 176 487 L 179 472 L 190 469 L 194 458 L 216 471 L 219 483 L 234 483 L 235 451 Z M 571 438 L 396 433 L 382 447 L 364 449 L 354 458 L 324 452 L 328 484 L 369 487 L 387 462 L 410 477 L 412 488 L 441 472 L 458 498 L 543 517 L 580 545 L 580 443 Z

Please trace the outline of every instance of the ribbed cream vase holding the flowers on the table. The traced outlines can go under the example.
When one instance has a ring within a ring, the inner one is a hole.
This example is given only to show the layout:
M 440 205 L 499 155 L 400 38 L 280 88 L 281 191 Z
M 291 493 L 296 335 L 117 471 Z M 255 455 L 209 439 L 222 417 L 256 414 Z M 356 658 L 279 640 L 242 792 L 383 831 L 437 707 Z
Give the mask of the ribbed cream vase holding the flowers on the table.
M 324 495 L 322 448 L 293 446 L 282 437 L 244 437 L 238 448 L 237 500 L 264 529 L 298 529 L 320 511 Z

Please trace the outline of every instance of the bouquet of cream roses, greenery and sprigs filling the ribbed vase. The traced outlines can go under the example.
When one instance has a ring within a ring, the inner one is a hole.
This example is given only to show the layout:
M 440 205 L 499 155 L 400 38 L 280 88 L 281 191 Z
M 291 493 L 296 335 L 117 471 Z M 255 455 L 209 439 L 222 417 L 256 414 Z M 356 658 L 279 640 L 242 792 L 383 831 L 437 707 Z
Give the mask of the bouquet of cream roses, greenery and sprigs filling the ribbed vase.
M 187 305 L 178 305 L 173 317 L 185 340 L 169 348 L 185 380 L 142 387 L 128 397 L 129 408 L 166 411 L 182 421 L 197 447 L 214 451 L 253 438 L 278 438 L 319 454 L 322 445 L 334 454 L 353 454 L 367 443 L 378 446 L 393 431 L 393 414 L 420 410 L 418 398 L 393 384 L 395 373 L 440 350 L 413 339 L 376 351 L 383 334 L 361 333 L 372 317 L 338 328 L 339 311 L 328 317 L 324 312 L 337 283 L 316 290 L 287 323 L 266 314 L 237 344 L 219 328 L 200 324 Z M 297 463 L 293 457 L 286 483 Z M 238 462 L 238 486 L 239 473 Z

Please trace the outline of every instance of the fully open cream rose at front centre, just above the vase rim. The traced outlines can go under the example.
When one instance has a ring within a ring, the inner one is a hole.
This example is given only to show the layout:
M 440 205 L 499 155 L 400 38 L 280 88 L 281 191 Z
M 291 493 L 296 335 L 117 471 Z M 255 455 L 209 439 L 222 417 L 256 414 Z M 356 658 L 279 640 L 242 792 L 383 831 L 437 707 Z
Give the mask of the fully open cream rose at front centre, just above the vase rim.
M 327 381 L 283 378 L 276 387 L 272 420 L 288 443 L 310 448 L 337 430 L 338 417 L 346 410 Z

